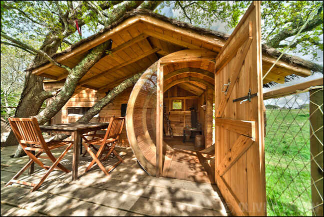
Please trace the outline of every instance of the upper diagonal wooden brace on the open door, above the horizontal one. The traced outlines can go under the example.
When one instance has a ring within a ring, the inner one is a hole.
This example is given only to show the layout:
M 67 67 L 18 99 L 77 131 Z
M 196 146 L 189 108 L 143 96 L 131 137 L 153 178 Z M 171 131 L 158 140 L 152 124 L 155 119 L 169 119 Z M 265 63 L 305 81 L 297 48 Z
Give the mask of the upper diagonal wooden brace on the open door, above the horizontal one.
M 239 54 L 237 54 L 236 67 L 234 68 L 233 73 L 232 73 L 232 75 L 230 77 L 230 82 L 231 83 L 228 86 L 227 94 L 223 95 L 222 98 L 221 98 L 221 101 L 220 101 L 219 106 L 217 108 L 217 111 L 215 113 L 216 118 L 221 117 L 221 115 L 224 112 L 224 109 L 225 109 L 225 107 L 227 105 L 230 94 L 231 94 L 231 92 L 232 92 L 232 90 L 234 88 L 234 85 L 235 85 L 236 80 L 238 78 L 239 72 L 240 72 L 241 67 L 243 65 L 245 56 L 246 56 L 247 51 L 248 51 L 248 49 L 249 49 L 249 47 L 251 45 L 251 42 L 252 42 L 252 39 L 249 38 L 248 41 L 247 41 L 247 44 L 244 46 L 244 48 L 241 50 L 241 52 Z M 219 73 L 219 71 L 218 71 L 218 73 Z M 216 74 L 217 74 L 217 72 L 216 72 Z

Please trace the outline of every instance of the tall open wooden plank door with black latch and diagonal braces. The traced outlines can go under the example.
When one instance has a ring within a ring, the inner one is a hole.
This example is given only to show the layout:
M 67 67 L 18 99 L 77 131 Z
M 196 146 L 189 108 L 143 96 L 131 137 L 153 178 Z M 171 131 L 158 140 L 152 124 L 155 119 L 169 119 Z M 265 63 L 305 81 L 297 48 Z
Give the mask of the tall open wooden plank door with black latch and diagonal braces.
M 260 31 L 253 2 L 215 64 L 215 180 L 234 215 L 266 215 Z

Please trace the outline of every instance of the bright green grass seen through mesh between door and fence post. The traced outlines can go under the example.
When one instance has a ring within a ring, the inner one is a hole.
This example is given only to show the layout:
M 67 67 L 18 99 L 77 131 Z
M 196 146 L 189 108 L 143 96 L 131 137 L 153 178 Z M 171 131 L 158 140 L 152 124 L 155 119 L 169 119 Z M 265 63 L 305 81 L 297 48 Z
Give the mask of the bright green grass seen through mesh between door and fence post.
M 267 215 L 311 215 L 308 117 L 308 109 L 266 110 Z

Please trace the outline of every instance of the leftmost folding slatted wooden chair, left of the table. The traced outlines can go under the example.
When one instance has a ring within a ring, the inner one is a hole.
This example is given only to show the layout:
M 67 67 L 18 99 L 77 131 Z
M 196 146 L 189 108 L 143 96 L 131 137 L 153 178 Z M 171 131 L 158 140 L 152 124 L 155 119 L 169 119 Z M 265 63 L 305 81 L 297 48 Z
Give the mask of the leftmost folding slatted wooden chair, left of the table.
M 49 173 L 54 169 L 58 168 L 64 172 L 70 172 L 70 170 L 66 169 L 64 166 L 62 166 L 59 161 L 64 157 L 64 155 L 67 153 L 68 149 L 72 147 L 73 142 L 72 141 L 50 141 L 45 142 L 41 131 L 39 129 L 39 125 L 37 122 L 37 119 L 35 117 L 32 118 L 8 118 L 9 124 L 12 128 L 12 131 L 17 138 L 19 144 L 21 145 L 23 151 L 29 156 L 29 161 L 26 165 L 20 169 L 20 171 L 15 174 L 11 180 L 6 183 L 5 186 L 11 185 L 12 183 L 18 183 L 18 184 L 24 184 L 28 186 L 32 186 L 33 188 L 31 191 L 34 191 L 39 188 L 41 183 L 46 179 L 46 177 L 49 175 Z M 55 148 L 59 148 L 63 145 L 69 144 L 65 150 L 61 153 L 61 155 L 58 158 L 55 158 L 51 150 Z M 37 154 L 34 154 L 38 152 Z M 45 156 L 39 156 L 42 153 L 46 153 L 47 157 Z M 51 166 L 44 165 L 39 158 L 49 158 L 52 161 Z M 31 183 L 31 182 L 25 182 L 25 181 L 19 181 L 17 178 L 33 163 L 37 163 L 40 167 L 47 170 L 45 175 L 40 179 L 38 183 Z

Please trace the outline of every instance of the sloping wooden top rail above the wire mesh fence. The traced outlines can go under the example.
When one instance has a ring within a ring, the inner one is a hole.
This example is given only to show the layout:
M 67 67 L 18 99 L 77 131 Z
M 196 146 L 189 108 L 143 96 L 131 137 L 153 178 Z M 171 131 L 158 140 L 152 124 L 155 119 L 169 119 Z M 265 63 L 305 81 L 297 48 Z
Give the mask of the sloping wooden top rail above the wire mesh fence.
M 317 78 L 311 81 L 306 81 L 300 84 L 295 84 L 289 87 L 283 87 L 277 90 L 272 90 L 263 93 L 263 100 L 291 95 L 296 93 L 297 90 L 304 90 L 311 86 L 320 86 L 320 85 L 323 85 L 323 78 Z

